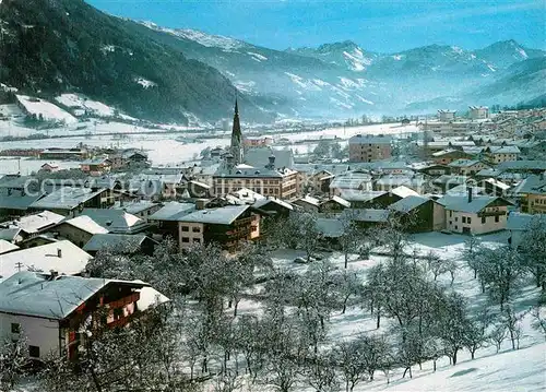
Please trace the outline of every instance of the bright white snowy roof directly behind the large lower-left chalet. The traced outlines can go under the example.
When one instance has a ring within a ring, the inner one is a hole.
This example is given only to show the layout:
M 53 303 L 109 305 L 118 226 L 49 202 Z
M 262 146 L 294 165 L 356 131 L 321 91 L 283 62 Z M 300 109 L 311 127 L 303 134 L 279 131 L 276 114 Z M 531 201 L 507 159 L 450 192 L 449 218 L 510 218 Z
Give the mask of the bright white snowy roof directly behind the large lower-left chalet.
M 60 258 L 59 258 L 60 250 Z M 92 257 L 69 240 L 41 245 L 2 254 L 0 278 L 7 278 L 17 271 L 33 270 L 49 273 L 75 275 L 85 270 Z M 19 266 L 20 265 L 20 266 Z

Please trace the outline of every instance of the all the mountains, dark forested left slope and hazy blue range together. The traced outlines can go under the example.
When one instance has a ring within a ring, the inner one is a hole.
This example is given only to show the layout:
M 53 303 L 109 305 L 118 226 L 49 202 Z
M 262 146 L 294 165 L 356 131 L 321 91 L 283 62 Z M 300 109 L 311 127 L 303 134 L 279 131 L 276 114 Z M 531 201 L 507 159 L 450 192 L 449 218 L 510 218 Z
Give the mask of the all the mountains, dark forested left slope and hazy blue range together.
M 511 105 L 544 94 L 546 52 L 513 40 L 479 50 L 379 54 L 354 41 L 274 50 L 135 23 L 82 0 L 4 0 L 0 28 L 0 83 L 45 99 L 84 94 L 156 121 L 230 117 L 235 90 L 241 115 L 259 122 Z

